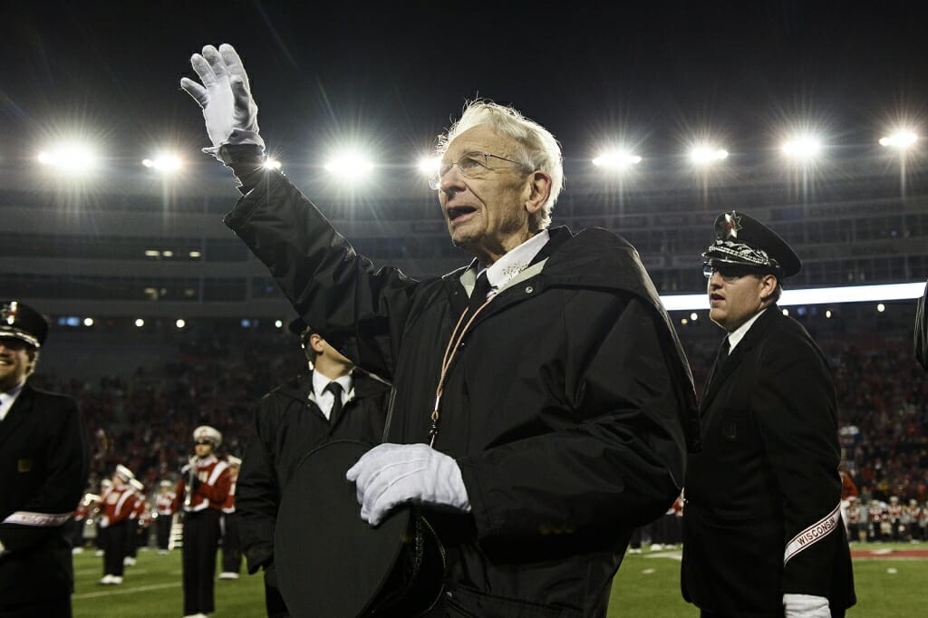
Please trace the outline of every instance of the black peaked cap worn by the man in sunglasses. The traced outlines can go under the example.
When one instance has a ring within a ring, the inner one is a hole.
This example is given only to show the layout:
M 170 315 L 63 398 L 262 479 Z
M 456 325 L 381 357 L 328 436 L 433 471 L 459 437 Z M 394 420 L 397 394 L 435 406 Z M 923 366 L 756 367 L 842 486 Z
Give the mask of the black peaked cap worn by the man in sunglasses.
M 715 242 L 702 253 L 704 266 L 738 266 L 757 273 L 792 277 L 802 262 L 776 232 L 744 214 L 723 212 L 715 219 Z

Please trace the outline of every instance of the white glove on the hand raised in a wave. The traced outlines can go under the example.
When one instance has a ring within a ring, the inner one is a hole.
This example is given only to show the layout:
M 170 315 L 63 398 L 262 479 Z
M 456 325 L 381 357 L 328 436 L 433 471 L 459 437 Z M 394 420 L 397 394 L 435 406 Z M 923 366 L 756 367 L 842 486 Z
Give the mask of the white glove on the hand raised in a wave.
M 221 161 L 219 148 L 226 144 L 255 144 L 264 149 L 258 135 L 258 105 L 235 48 L 225 43 L 218 50 L 206 45 L 202 55 L 190 57 L 190 65 L 203 84 L 184 77 L 180 87 L 203 109 L 206 133 L 213 142 L 213 148 L 203 148 L 203 152 Z

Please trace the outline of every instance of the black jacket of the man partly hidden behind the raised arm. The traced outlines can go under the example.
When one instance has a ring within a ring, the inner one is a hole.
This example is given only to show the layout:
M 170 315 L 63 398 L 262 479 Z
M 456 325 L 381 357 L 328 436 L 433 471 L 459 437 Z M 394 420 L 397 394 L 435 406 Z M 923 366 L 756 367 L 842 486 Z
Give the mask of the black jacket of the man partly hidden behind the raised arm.
M 313 374 L 297 376 L 264 395 L 255 409 L 236 485 L 236 518 L 249 573 L 274 556 L 280 498 L 303 456 L 329 440 L 380 444 L 390 386 L 354 370 L 352 393 L 339 418 L 316 406 Z

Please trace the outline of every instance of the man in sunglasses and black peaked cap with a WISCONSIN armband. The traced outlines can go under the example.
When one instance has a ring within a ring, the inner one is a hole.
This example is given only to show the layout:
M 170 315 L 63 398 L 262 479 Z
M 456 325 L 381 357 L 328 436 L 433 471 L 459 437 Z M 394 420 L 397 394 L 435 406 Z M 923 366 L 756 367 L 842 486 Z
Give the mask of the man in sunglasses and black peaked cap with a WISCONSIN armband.
M 727 331 L 690 456 L 682 588 L 704 618 L 844 616 L 855 602 L 825 356 L 777 306 L 792 248 L 743 212 L 702 253 L 709 317 Z

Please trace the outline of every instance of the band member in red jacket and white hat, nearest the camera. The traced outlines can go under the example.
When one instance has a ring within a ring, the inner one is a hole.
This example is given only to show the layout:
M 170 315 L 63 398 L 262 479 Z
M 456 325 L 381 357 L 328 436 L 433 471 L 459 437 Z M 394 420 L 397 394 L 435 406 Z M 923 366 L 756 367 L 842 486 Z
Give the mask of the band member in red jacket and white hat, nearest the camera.
M 212 613 L 214 609 L 213 577 L 216 572 L 216 549 L 219 547 L 219 518 L 229 493 L 229 470 L 225 461 L 213 455 L 222 444 L 222 434 L 202 425 L 193 431 L 198 456 L 181 470 L 177 483 L 177 500 L 184 505 L 184 614 Z M 205 456 L 200 446 L 209 444 Z

